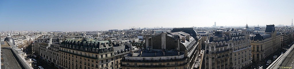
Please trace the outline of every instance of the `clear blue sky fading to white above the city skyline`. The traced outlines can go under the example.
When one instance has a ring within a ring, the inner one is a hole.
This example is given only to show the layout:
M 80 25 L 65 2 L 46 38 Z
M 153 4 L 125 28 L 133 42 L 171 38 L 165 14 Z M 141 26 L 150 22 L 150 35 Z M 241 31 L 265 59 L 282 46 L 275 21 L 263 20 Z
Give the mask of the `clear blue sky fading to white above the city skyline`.
M 292 18 L 294 0 L 0 0 L 0 31 L 277 26 Z

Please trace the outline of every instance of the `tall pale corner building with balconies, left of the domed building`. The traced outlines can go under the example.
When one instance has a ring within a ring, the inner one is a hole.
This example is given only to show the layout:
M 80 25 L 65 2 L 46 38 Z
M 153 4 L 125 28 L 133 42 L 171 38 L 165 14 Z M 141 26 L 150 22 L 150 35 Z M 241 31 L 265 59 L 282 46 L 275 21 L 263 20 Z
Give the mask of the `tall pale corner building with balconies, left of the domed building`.
M 205 42 L 205 69 L 241 69 L 251 64 L 249 32 L 216 31 Z

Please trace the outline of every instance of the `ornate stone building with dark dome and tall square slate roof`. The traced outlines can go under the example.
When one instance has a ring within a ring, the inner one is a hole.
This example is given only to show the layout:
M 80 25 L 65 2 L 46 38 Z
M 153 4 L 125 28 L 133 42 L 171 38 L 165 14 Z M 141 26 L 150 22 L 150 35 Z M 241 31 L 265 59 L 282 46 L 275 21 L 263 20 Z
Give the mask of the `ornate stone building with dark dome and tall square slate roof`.
M 253 62 L 259 63 L 281 48 L 281 33 L 275 31 L 275 25 L 266 25 L 265 34 L 251 37 Z

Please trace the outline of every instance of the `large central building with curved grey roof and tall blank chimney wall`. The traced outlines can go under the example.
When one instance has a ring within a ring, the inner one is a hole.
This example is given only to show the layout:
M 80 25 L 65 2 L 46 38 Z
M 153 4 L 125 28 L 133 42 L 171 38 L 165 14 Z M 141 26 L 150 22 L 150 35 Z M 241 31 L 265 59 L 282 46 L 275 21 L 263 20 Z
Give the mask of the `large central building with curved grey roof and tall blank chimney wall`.
M 197 37 L 193 28 L 177 28 L 154 37 L 146 37 L 141 51 L 130 51 L 130 54 L 122 59 L 121 67 L 122 69 L 194 68 L 199 55 L 199 45 L 201 47 L 201 38 Z

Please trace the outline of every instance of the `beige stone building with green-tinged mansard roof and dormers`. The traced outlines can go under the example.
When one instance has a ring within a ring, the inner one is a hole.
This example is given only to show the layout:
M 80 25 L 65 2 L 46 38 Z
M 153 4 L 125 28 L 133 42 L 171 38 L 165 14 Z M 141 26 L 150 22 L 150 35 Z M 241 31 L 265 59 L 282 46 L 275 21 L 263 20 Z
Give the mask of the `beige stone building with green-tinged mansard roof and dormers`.
M 59 48 L 61 69 L 114 69 L 113 45 L 108 41 L 67 39 Z

